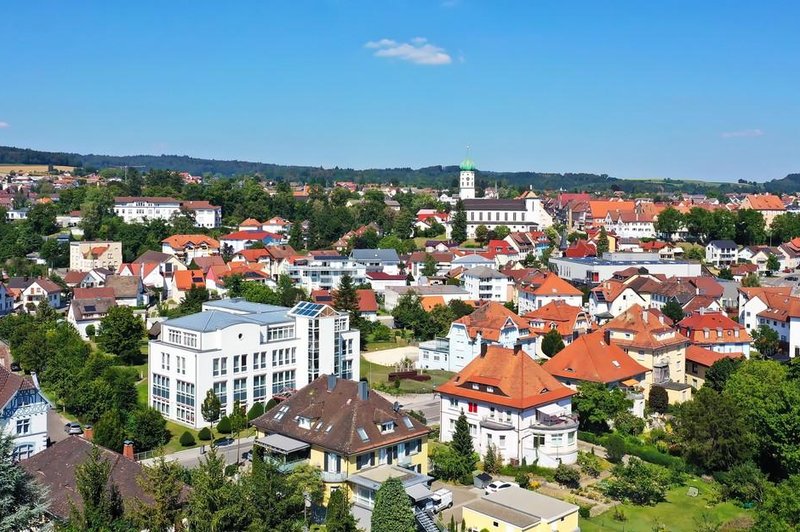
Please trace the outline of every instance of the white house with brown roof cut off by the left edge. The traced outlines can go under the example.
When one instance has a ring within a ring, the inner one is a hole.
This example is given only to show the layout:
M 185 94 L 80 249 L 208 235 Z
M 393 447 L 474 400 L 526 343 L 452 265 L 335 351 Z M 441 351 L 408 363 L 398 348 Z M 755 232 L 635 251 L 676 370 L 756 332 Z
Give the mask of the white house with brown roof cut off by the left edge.
M 47 448 L 50 404 L 36 374 L 22 377 L 0 364 L 0 434 L 11 436 L 11 459 L 25 460 Z

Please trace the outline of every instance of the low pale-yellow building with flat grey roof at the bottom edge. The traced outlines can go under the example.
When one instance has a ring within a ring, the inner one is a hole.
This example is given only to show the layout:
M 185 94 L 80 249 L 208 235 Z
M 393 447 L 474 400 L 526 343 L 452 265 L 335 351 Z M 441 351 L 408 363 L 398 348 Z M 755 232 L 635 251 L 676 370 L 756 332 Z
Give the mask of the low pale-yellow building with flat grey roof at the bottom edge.
M 462 517 L 470 532 L 574 532 L 578 507 L 535 491 L 511 487 L 467 503 Z

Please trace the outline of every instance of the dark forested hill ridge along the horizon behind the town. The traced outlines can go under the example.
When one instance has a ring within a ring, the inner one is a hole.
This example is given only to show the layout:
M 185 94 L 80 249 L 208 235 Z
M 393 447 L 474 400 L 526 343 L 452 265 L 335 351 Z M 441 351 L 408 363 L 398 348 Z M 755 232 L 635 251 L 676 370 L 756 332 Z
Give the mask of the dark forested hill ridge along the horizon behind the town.
M 429 166 L 426 168 L 375 168 L 354 170 L 351 168 L 319 168 L 313 166 L 278 165 L 249 161 L 224 161 L 200 159 L 186 155 L 81 155 L 78 153 L 46 152 L 27 148 L 0 146 L 0 164 L 47 164 L 76 166 L 86 169 L 102 169 L 119 166 L 136 166 L 163 170 L 177 170 L 194 175 L 233 177 L 258 174 L 268 180 L 287 181 L 333 181 L 352 180 L 409 184 L 418 186 L 449 187 L 458 176 L 458 166 Z M 779 185 L 790 180 L 783 185 Z M 540 173 L 540 172 L 492 172 L 480 170 L 479 184 L 528 187 L 536 190 L 608 191 L 622 190 L 632 194 L 673 192 L 726 193 L 733 191 L 759 190 L 760 185 L 741 183 L 711 183 L 681 180 L 636 180 L 609 177 L 605 174 L 588 173 Z M 781 180 L 773 180 L 767 186 L 781 186 L 800 190 L 800 174 L 792 174 Z M 768 189 L 769 190 L 769 189 Z

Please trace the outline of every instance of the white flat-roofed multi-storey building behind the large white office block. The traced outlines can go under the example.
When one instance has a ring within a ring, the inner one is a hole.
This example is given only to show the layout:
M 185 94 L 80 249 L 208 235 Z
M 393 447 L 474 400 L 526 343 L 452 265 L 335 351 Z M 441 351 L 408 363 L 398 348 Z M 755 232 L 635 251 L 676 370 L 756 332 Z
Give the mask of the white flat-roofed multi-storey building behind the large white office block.
M 345 275 L 349 275 L 356 285 L 367 280 L 366 266 L 335 252 L 297 257 L 287 266 L 286 273 L 306 292 L 336 288 Z

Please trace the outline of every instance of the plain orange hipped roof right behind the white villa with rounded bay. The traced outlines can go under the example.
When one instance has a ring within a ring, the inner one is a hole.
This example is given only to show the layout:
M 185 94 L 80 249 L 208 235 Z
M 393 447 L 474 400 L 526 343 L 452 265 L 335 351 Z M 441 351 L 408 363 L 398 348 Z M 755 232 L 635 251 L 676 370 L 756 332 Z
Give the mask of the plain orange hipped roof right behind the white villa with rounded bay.
M 579 336 L 542 367 L 556 377 L 604 384 L 619 382 L 649 371 L 619 346 L 607 344 L 603 331 Z

